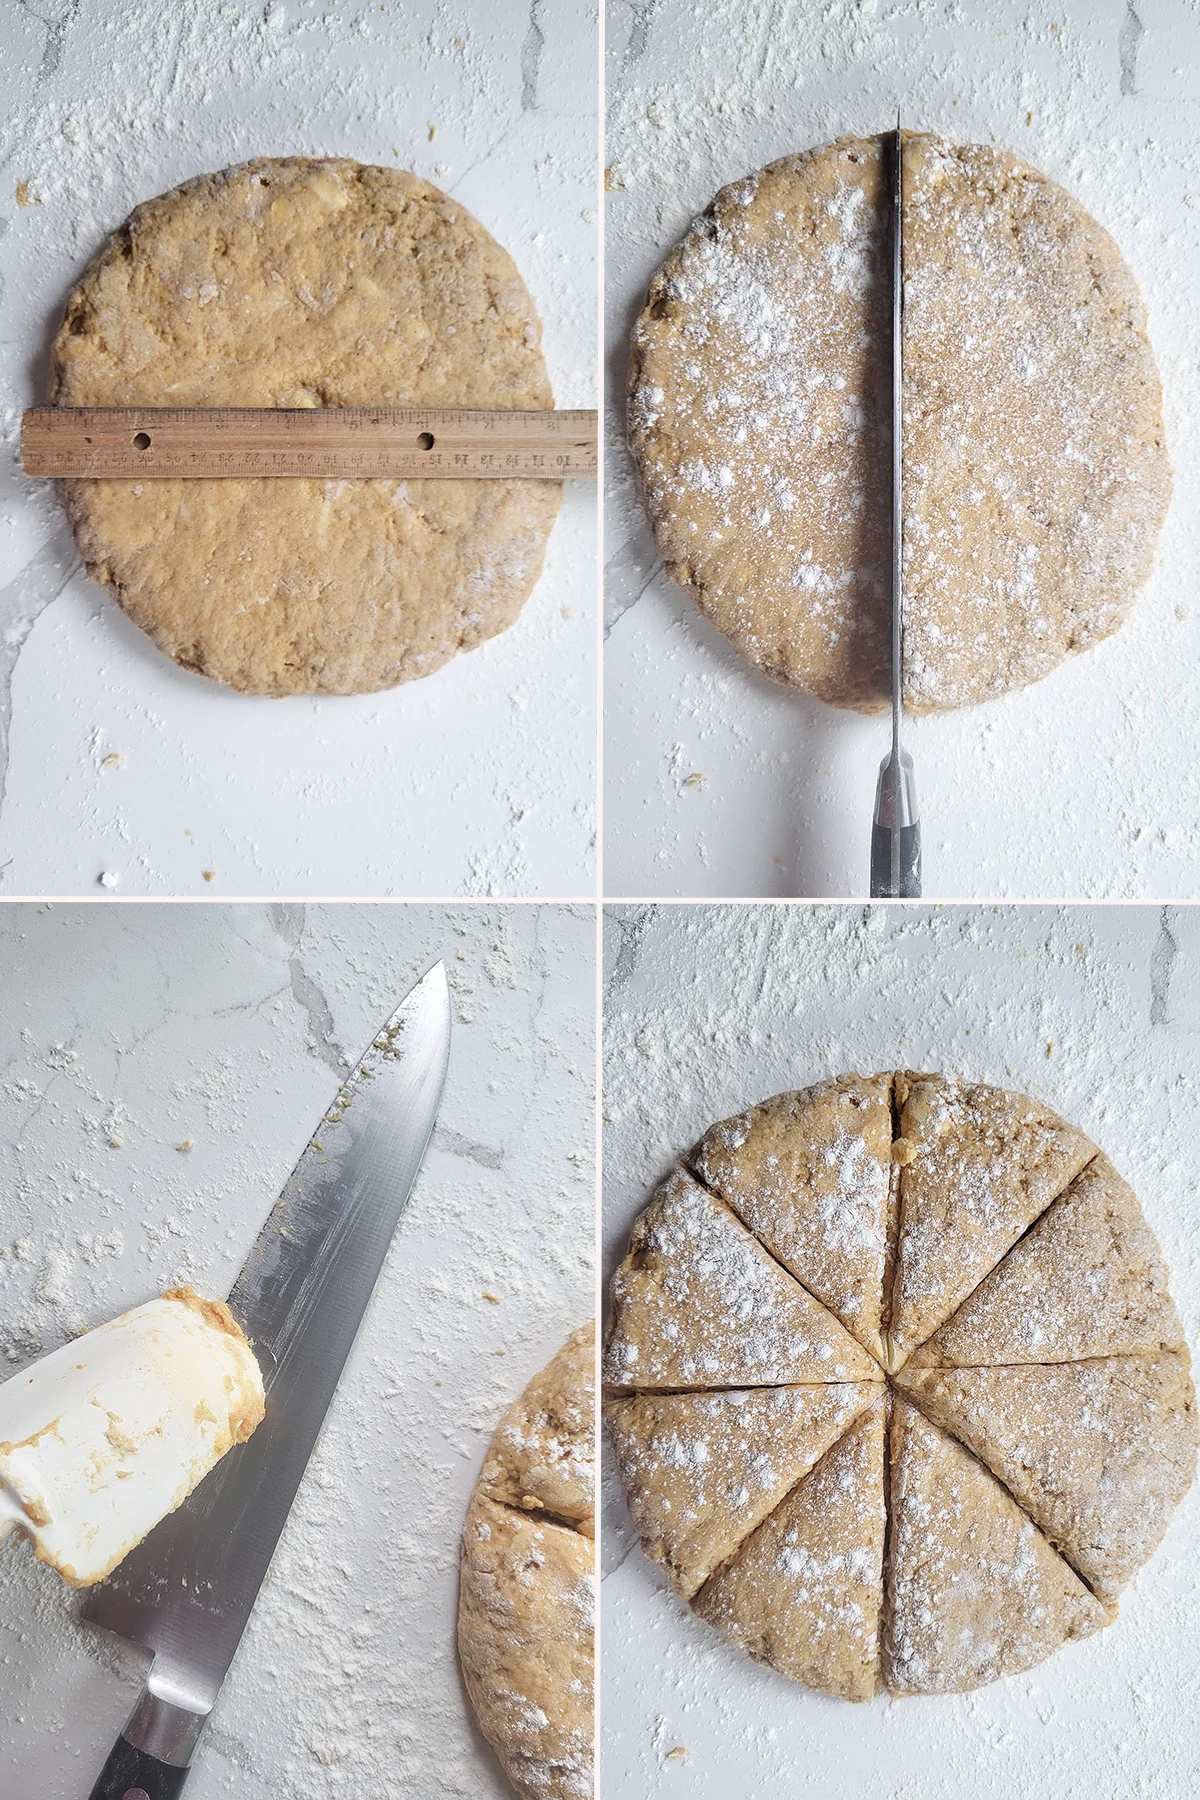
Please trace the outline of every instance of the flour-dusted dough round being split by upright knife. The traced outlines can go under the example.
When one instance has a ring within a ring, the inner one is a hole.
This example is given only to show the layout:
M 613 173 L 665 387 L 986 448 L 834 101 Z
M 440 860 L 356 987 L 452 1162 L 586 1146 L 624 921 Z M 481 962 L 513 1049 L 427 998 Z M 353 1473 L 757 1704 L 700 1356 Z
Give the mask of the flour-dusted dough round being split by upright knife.
M 630 443 L 667 572 L 763 673 L 891 700 L 885 139 L 723 187 L 633 328 Z M 1112 238 L 984 144 L 905 133 L 905 706 L 970 706 L 1123 623 L 1169 499 Z

